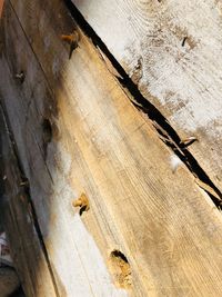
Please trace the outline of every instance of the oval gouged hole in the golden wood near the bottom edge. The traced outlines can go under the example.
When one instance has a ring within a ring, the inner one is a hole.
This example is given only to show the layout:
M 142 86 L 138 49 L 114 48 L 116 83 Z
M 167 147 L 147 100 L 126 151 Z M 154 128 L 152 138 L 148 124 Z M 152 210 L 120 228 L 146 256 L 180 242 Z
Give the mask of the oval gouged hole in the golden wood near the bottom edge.
M 110 254 L 110 269 L 117 286 L 129 288 L 132 285 L 131 267 L 124 254 L 114 249 Z

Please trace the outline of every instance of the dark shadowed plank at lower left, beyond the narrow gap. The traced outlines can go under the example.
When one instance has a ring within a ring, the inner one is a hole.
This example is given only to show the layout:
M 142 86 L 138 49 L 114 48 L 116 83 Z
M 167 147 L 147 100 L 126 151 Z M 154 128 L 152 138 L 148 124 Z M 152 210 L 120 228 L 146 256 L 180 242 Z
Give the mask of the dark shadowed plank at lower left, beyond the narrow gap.
M 13 247 L 12 258 L 27 296 L 57 296 L 12 146 L 0 108 L 0 215 Z M 6 296 L 3 291 L 0 295 Z

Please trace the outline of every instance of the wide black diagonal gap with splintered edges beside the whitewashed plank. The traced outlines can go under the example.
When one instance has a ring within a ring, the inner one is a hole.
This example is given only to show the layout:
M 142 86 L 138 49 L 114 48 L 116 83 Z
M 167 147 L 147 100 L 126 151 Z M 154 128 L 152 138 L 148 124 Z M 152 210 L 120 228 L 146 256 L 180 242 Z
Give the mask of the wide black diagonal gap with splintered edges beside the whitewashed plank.
M 199 178 L 202 182 L 206 184 L 216 194 L 215 196 L 209 194 L 215 206 L 221 209 L 222 207 L 222 192 L 216 188 L 216 186 L 209 178 L 206 172 L 201 168 L 191 152 L 184 147 L 183 141 L 180 139 L 176 131 L 171 127 L 167 118 L 150 102 L 145 99 L 139 91 L 138 86 L 131 80 L 122 66 L 115 60 L 113 55 L 109 51 L 107 46 L 103 43 L 101 38 L 95 33 L 91 26 L 87 22 L 80 11 L 71 2 L 71 0 L 64 0 L 71 16 L 73 17 L 77 24 L 82 29 L 82 31 L 91 39 L 94 47 L 100 48 L 100 50 L 107 56 L 107 58 L 112 63 L 113 68 L 119 72 L 121 78 L 117 78 L 122 88 L 127 89 L 133 97 L 131 101 L 140 111 L 145 113 L 150 120 L 153 121 L 154 127 L 161 139 L 169 146 L 176 156 L 185 164 L 189 170 Z M 218 196 L 218 197 L 216 197 Z

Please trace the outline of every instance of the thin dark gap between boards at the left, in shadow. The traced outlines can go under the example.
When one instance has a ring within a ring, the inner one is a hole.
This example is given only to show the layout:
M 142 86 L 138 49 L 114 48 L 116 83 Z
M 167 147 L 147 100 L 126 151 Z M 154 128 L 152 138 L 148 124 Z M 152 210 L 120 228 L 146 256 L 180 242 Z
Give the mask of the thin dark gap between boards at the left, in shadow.
M 29 201 L 30 211 L 31 211 L 32 221 L 33 221 L 33 227 L 34 227 L 34 230 L 36 230 L 36 232 L 38 235 L 39 242 L 41 245 L 42 253 L 44 255 L 44 258 L 46 258 L 46 261 L 47 261 L 47 265 L 48 265 L 48 268 L 49 268 L 49 273 L 50 273 L 53 286 L 54 286 L 56 295 L 59 297 L 59 290 L 58 290 L 58 287 L 57 287 L 57 281 L 56 281 L 56 278 L 54 278 L 51 265 L 50 265 L 48 251 L 47 251 L 47 248 L 46 248 L 46 245 L 44 245 L 44 240 L 43 240 L 43 237 L 42 237 L 42 234 L 41 234 L 41 229 L 40 229 L 40 226 L 39 226 L 38 216 L 37 216 L 32 199 L 31 199 L 29 180 L 26 177 L 26 174 L 24 174 L 24 170 L 23 170 L 23 167 L 22 167 L 22 162 L 21 162 L 20 157 L 19 157 L 18 148 L 17 148 L 17 145 L 16 145 L 16 141 L 14 141 L 14 138 L 13 138 L 13 133 L 12 133 L 12 130 L 10 128 L 10 121 L 8 119 L 8 116 L 7 116 L 7 112 L 4 110 L 4 107 L 2 106 L 1 102 L 0 102 L 0 109 L 2 110 L 2 115 L 4 117 L 4 123 L 6 123 L 7 132 L 8 132 L 9 139 L 10 139 L 12 151 L 13 151 L 14 158 L 17 160 L 17 166 L 18 166 L 18 170 L 19 170 L 19 174 L 20 174 L 20 185 L 19 186 L 23 187 L 23 192 L 26 194 L 26 197 L 27 197 L 27 199 Z

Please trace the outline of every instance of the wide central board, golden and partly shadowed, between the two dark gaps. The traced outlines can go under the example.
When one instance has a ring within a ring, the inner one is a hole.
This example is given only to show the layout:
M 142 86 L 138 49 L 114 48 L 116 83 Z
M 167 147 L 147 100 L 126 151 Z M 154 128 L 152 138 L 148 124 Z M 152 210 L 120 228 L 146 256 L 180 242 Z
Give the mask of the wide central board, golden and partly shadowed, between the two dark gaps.
M 69 60 L 62 2 L 8 1 L 3 24 L 0 92 L 57 296 L 220 296 L 220 211 L 185 166 L 173 174 L 173 152 L 79 29 Z M 129 260 L 123 281 L 113 250 Z

